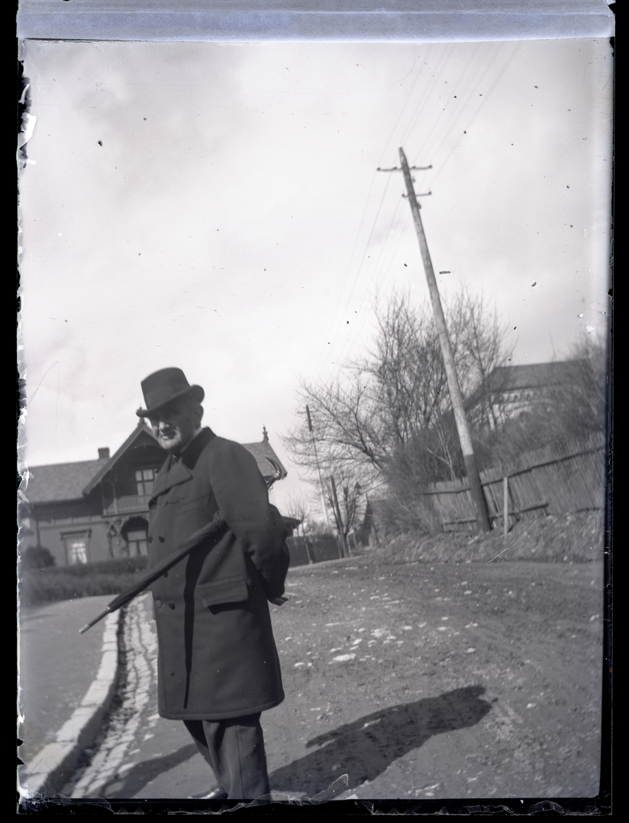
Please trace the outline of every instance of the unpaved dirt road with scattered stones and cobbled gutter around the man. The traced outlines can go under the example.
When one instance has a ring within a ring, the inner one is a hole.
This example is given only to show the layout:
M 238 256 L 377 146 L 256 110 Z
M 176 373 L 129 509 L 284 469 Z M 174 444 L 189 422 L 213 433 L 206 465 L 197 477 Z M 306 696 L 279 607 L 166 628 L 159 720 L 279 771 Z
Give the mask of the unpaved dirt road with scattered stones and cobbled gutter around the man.
M 339 798 L 593 797 L 602 572 L 366 557 L 292 569 L 289 600 L 273 608 L 287 699 L 263 715 L 272 788 L 313 796 L 347 774 Z M 128 659 L 142 668 L 141 700 L 133 675 L 64 794 L 211 786 L 183 724 L 156 718 L 153 624 L 138 609 Z

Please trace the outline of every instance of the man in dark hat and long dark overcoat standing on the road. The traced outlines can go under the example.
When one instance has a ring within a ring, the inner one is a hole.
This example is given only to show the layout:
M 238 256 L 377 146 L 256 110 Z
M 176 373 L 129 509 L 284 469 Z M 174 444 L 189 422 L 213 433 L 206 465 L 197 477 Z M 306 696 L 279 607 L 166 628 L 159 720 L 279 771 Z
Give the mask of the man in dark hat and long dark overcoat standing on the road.
M 286 528 L 253 455 L 202 428 L 203 388 L 163 369 L 142 392 L 137 414 L 169 453 L 149 504 L 151 565 L 217 512 L 226 523 L 152 584 L 159 714 L 183 720 L 211 765 L 208 797 L 259 797 L 269 792 L 260 713 L 284 699 L 268 601 L 284 593 Z

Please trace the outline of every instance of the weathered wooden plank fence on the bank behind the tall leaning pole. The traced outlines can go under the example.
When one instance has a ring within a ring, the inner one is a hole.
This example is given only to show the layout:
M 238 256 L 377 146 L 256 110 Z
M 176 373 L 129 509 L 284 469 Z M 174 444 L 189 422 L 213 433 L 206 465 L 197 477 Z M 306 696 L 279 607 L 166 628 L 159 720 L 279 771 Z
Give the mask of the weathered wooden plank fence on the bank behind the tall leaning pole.
M 546 449 L 529 453 L 523 467 L 500 472 L 481 472 L 481 483 L 492 521 L 512 526 L 523 517 L 602 509 L 605 500 L 605 446 L 594 439 L 559 456 Z M 467 481 L 441 482 L 424 493 L 436 510 L 444 531 L 474 523 Z

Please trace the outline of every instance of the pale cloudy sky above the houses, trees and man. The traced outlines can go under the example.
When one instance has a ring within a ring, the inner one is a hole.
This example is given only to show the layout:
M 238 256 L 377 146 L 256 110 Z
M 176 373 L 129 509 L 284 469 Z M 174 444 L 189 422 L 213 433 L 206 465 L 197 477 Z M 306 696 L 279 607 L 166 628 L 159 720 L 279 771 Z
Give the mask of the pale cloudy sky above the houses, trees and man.
M 96 458 L 178 365 L 218 434 L 282 446 L 301 378 L 365 353 L 378 293 L 482 291 L 515 363 L 608 311 L 604 40 L 459 44 L 30 41 L 21 357 L 30 466 Z M 280 489 L 282 486 L 282 489 Z

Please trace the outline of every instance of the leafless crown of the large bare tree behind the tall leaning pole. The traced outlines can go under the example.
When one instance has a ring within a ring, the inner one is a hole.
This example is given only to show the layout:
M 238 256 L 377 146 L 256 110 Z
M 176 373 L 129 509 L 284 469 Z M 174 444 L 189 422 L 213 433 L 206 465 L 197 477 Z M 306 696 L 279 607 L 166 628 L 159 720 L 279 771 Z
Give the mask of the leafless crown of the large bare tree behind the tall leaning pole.
M 506 328 L 482 295 L 466 291 L 446 303 L 445 314 L 459 380 L 472 396 L 492 369 L 506 361 Z M 431 309 L 427 304 L 414 307 L 408 295 L 394 294 L 375 305 L 374 342 L 366 357 L 344 365 L 328 384 L 303 383 L 299 398 L 300 423 L 284 443 L 296 463 L 313 474 L 313 437 L 324 476 L 349 473 L 366 490 L 390 476 L 392 463 L 412 444 L 419 444 L 427 457 L 432 480 L 462 472 Z M 491 403 L 485 408 L 481 416 L 487 418 Z

